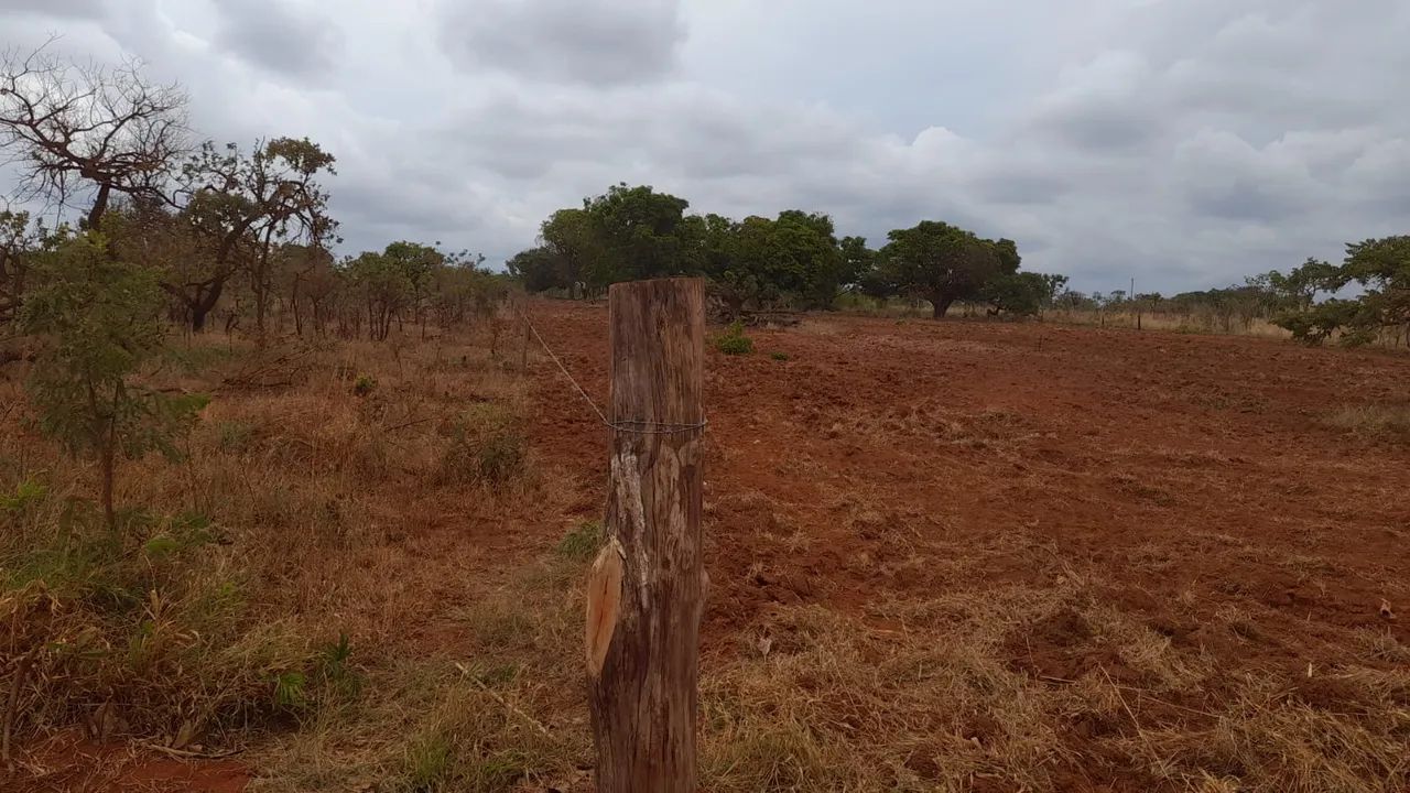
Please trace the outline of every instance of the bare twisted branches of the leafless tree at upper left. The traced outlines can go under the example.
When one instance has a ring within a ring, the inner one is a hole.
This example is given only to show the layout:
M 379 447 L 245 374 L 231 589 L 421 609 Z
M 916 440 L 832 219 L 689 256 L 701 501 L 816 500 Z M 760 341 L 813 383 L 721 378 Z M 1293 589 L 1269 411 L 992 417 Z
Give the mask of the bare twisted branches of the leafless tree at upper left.
M 0 155 L 21 200 L 89 198 L 96 227 L 113 193 L 157 195 L 188 150 L 186 93 L 154 85 L 141 62 L 82 63 L 49 51 L 0 52 Z

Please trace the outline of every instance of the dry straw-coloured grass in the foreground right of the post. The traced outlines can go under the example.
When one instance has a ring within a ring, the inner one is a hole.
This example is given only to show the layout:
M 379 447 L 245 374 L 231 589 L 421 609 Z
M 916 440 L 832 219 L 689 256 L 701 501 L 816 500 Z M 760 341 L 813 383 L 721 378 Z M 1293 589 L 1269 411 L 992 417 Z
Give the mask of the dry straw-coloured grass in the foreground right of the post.
M 1141 780 L 1146 790 L 1273 793 L 1410 785 L 1404 670 L 1347 667 L 1307 680 L 1230 673 L 1100 605 L 1080 579 L 1049 590 L 888 603 L 874 617 L 901 628 L 781 608 L 767 641 L 752 643 L 753 658 L 706 667 L 712 790 L 1050 790 Z M 1074 628 L 1056 636 L 1066 656 L 1086 665 L 1072 677 L 1035 672 L 1022 650 L 1015 658 L 1028 636 L 1055 638 L 1052 625 Z M 1372 645 L 1404 650 L 1386 635 Z M 1318 691 L 1334 693 L 1335 704 Z

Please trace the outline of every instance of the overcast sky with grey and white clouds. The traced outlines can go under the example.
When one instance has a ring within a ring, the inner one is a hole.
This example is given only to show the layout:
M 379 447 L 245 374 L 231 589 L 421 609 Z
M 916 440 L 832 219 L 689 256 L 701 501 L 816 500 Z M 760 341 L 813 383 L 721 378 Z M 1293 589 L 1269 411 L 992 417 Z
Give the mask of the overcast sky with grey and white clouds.
M 348 251 L 499 262 L 619 181 L 949 220 L 1084 291 L 1410 231 L 1406 0 L 0 0 L 0 42 L 49 32 L 180 80 L 204 137 L 331 150 Z

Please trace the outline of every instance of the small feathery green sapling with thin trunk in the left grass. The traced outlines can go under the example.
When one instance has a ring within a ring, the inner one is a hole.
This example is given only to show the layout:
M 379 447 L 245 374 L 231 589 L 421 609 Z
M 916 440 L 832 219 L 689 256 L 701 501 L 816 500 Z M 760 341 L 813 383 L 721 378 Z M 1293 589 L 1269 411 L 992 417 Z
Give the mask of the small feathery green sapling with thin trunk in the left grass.
M 116 532 L 117 456 L 178 457 L 173 439 L 206 399 L 134 382 L 164 334 L 164 299 L 149 268 L 111 255 L 97 233 L 61 233 L 35 270 L 39 286 L 25 298 L 20 329 L 42 343 L 28 381 L 39 429 L 70 453 L 97 459 L 103 515 Z

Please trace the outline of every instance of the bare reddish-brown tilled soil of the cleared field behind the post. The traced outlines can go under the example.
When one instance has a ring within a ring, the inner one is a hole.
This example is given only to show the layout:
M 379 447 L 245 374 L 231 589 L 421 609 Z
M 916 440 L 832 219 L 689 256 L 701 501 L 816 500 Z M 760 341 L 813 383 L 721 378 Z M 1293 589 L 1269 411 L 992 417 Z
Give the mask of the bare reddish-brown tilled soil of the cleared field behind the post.
M 534 316 L 603 398 L 605 309 Z M 1230 669 L 1337 665 L 1359 628 L 1410 642 L 1410 449 L 1321 423 L 1403 402 L 1410 358 L 842 316 L 754 339 L 753 356 L 708 358 L 706 653 L 733 652 L 771 604 L 874 622 L 888 598 L 1046 586 L 1045 557 Z M 536 444 L 599 514 L 602 428 L 547 360 L 539 378 Z M 1256 628 L 1214 619 L 1230 610 Z M 1121 674 L 1121 659 L 1069 652 L 1069 628 L 1029 632 L 1012 663 Z

